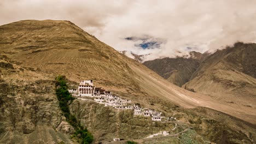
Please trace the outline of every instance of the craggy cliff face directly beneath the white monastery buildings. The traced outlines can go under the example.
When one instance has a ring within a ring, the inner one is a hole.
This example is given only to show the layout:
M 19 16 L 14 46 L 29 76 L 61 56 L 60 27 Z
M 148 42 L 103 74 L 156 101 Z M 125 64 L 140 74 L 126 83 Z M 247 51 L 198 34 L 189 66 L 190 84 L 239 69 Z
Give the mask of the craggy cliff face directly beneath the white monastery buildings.
M 153 122 L 150 117 L 133 116 L 132 110 L 104 107 L 94 101 L 74 100 L 71 112 L 94 134 L 95 142 L 112 141 L 113 138 L 142 139 L 159 131 L 171 131 L 174 123 Z

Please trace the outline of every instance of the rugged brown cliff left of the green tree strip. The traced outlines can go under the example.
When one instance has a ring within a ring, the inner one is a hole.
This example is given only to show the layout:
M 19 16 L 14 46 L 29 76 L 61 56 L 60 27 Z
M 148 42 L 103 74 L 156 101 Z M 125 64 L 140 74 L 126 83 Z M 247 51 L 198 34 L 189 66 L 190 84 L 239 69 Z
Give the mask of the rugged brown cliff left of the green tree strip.
M 69 138 L 73 129 L 63 119 L 54 81 L 1 61 L 0 143 L 75 143 Z

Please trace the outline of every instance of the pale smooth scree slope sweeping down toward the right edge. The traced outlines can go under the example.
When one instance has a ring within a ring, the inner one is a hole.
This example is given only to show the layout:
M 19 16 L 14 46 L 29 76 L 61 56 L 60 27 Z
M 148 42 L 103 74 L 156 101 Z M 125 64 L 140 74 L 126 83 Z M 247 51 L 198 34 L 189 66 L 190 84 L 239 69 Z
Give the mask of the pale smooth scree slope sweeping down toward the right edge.
M 144 91 L 149 92 L 158 97 L 165 98 L 178 105 L 182 105 L 187 108 L 195 106 L 209 107 L 214 110 L 228 113 L 229 115 L 244 119 L 245 121 L 255 123 L 256 113 L 253 107 L 243 107 L 240 105 L 234 105 L 224 103 L 218 100 L 214 100 L 208 95 L 199 93 L 193 93 L 186 91 L 183 88 L 173 85 L 165 79 L 155 74 L 152 71 L 148 71 L 147 68 L 132 66 L 132 70 L 136 71 L 141 78 L 137 79 L 139 86 Z

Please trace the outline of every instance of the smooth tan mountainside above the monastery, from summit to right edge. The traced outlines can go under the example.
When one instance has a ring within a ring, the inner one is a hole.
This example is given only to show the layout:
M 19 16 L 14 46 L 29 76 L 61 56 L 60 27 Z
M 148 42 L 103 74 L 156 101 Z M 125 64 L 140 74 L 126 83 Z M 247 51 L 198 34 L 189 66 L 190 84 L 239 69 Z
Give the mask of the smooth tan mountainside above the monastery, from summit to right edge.
M 0 26 L 0 38 L 1 54 L 52 78 L 62 74 L 76 82 L 92 79 L 96 86 L 133 95 L 133 100 L 158 97 L 170 104 L 206 106 L 256 123 L 253 107 L 238 109 L 174 86 L 68 21 L 14 22 Z

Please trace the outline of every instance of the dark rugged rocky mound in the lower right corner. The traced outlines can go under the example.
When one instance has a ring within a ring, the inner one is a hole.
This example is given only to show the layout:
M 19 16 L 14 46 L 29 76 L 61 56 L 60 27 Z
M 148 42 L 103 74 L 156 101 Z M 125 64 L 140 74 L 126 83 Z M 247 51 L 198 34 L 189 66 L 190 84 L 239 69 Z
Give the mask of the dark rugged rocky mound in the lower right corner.
M 200 116 L 198 117 L 198 115 Z M 254 143 L 256 140 L 255 137 L 252 137 L 255 124 L 247 123 L 222 112 L 206 107 L 196 107 L 187 110 L 184 117 L 187 117 L 197 134 L 216 143 Z M 251 132 L 244 133 L 245 131 L 241 130 L 242 127 Z

